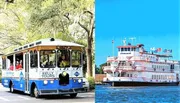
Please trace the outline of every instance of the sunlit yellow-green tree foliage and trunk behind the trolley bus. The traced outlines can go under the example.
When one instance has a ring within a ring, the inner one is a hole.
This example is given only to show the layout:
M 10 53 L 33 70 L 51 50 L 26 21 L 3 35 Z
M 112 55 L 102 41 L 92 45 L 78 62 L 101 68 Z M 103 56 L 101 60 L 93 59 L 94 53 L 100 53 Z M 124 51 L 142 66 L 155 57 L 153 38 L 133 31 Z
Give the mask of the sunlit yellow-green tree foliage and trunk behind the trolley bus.
M 94 0 L 16 0 L 6 9 L 1 2 L 0 50 L 47 37 L 77 42 L 86 46 L 87 74 L 92 76 Z

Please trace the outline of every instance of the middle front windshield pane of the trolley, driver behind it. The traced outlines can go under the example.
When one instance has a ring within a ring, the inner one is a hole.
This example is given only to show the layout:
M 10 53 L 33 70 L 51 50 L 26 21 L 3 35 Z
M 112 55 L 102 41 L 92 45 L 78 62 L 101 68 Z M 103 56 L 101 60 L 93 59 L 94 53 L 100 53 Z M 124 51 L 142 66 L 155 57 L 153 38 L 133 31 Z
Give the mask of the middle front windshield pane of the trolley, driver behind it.
M 58 67 L 70 67 L 70 51 L 69 50 L 58 50 L 57 51 Z

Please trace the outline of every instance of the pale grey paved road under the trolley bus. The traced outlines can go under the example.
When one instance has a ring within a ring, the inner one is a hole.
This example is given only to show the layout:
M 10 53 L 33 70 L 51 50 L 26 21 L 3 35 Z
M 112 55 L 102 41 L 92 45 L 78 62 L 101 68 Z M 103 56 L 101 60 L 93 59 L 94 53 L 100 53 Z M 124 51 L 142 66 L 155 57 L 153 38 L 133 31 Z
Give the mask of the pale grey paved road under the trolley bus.
M 69 96 L 46 96 L 33 98 L 23 93 L 10 93 L 0 84 L 0 103 L 94 103 L 94 93 L 80 93 L 76 98 Z

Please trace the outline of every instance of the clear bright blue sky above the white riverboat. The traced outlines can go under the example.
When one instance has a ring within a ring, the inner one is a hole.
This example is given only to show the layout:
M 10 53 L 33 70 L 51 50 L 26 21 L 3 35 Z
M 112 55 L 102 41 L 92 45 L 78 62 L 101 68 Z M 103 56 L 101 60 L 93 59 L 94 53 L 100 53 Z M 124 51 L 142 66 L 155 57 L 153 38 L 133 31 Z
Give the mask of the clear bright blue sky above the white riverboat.
M 172 49 L 174 59 L 180 60 L 179 5 L 179 0 L 96 0 L 96 65 L 113 55 L 112 40 L 117 56 L 124 38 L 144 44 L 148 51 Z

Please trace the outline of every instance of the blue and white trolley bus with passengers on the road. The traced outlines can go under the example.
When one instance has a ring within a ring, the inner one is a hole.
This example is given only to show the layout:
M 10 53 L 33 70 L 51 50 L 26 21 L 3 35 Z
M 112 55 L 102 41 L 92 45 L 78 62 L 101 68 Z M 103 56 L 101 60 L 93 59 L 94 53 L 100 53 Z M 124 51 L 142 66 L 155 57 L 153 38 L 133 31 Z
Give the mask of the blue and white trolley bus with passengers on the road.
M 42 39 L 2 56 L 2 85 L 10 92 L 41 95 L 69 94 L 83 88 L 82 45 L 59 39 Z

